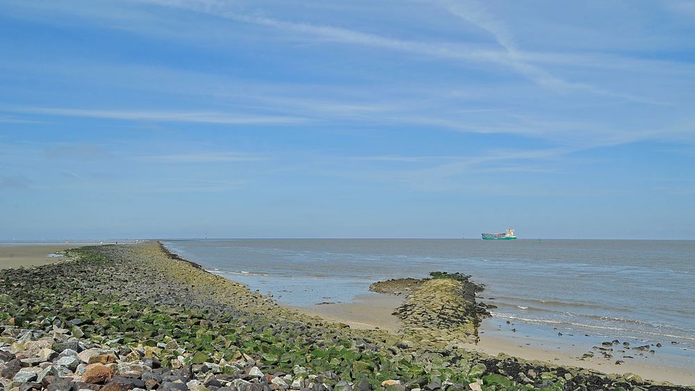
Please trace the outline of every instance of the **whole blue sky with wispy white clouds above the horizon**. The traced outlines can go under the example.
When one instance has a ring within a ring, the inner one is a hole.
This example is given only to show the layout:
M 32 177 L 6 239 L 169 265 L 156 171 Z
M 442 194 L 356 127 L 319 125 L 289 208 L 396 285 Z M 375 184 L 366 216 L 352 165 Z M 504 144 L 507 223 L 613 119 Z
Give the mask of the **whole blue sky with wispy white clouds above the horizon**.
M 692 239 L 695 2 L 3 0 L 0 240 Z

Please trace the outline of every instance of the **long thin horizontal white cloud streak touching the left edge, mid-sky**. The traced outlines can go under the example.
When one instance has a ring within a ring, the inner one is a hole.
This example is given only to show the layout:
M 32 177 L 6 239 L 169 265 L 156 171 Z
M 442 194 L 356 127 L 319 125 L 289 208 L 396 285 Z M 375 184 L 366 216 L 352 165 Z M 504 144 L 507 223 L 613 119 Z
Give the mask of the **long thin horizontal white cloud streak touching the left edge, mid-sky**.
M 245 115 L 215 111 L 99 110 L 85 108 L 46 108 L 0 106 L 0 110 L 34 115 L 87 117 L 132 121 L 196 122 L 206 124 L 298 124 L 307 119 L 274 115 Z

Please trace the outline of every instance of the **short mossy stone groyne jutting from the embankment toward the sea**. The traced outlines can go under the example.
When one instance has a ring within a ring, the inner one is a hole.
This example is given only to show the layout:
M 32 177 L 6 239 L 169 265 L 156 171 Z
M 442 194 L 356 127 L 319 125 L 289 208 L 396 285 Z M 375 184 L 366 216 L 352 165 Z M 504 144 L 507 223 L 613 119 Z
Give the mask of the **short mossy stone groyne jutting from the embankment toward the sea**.
M 399 278 L 370 285 L 379 293 L 405 295 L 395 310 L 403 322 L 403 333 L 425 344 L 476 342 L 477 327 L 490 316 L 482 303 L 475 302 L 475 292 L 482 285 L 460 273 L 432 272 L 430 278 Z

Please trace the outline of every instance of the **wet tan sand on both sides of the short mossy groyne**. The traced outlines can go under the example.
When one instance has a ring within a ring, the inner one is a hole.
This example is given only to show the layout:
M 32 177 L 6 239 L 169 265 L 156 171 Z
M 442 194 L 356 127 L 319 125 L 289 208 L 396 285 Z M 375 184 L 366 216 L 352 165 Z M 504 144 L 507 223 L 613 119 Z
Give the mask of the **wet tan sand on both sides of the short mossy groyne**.
M 330 322 L 348 324 L 354 328 L 380 328 L 397 333 L 401 324 L 400 319 L 391 313 L 400 306 L 402 301 L 403 297 L 369 293 L 357 296 L 352 303 L 321 304 L 311 307 L 295 307 L 295 309 L 302 313 L 322 317 Z M 695 385 L 695 372 L 689 369 L 631 360 L 626 360 L 621 365 L 615 365 L 613 361 L 609 362 L 600 358 L 578 360 L 578 357 L 582 355 L 580 349 L 573 351 L 562 344 L 553 346 L 547 342 L 544 344 L 545 346 L 540 346 L 539 342 L 522 335 L 510 337 L 498 331 L 493 326 L 495 322 L 497 322 L 496 319 L 493 319 L 492 322 L 483 322 L 480 327 L 482 333 L 479 343 L 462 344 L 461 346 L 493 356 L 504 353 L 508 356 L 544 361 L 552 365 L 582 367 L 605 373 L 626 374 L 630 372 L 653 381 Z

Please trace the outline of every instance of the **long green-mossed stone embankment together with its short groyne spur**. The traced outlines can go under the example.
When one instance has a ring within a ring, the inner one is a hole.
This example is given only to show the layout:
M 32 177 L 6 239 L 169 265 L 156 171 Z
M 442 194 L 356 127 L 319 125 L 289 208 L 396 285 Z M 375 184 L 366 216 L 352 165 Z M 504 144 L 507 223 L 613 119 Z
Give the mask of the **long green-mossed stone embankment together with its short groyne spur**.
M 280 306 L 158 242 L 64 253 L 0 271 L 8 390 L 692 390 L 466 349 L 485 315 L 464 276 L 421 280 L 390 332 Z

